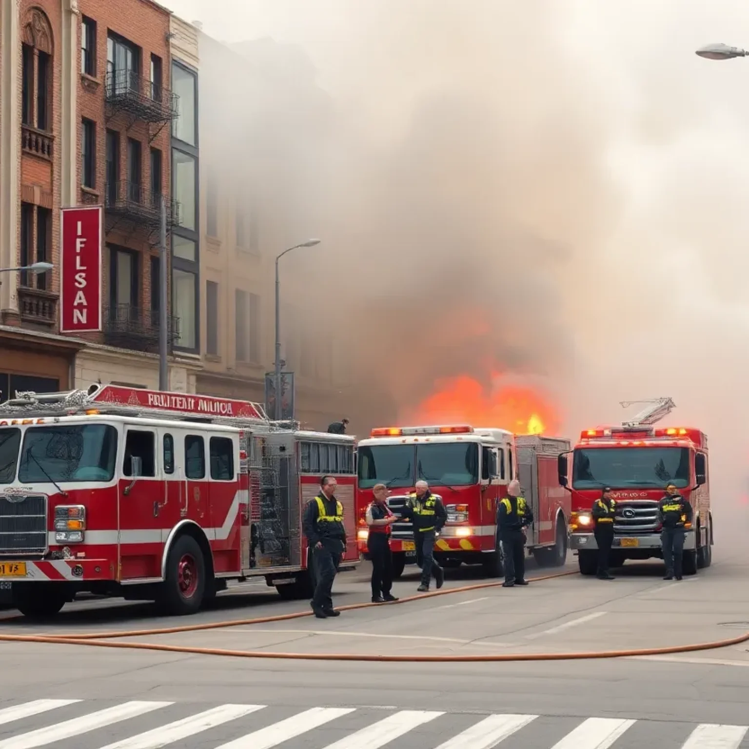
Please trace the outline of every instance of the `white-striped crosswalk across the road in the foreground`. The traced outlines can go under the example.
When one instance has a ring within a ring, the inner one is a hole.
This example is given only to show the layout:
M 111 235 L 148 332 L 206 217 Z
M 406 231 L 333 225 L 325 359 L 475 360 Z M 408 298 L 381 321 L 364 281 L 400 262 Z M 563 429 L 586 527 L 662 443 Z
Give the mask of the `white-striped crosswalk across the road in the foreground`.
M 524 749 L 617 749 L 622 737 L 621 745 L 631 745 L 628 732 L 638 724 L 629 718 L 466 715 L 372 706 L 105 705 L 97 701 L 97 709 L 90 709 L 84 700 L 65 699 L 0 708 L 0 749 L 36 749 L 65 739 L 76 739 L 86 749 L 304 749 L 311 743 L 321 749 L 380 749 L 398 739 L 419 749 L 501 749 L 506 739 L 507 745 Z M 146 715 L 151 715 L 147 725 L 134 720 Z M 681 749 L 740 749 L 749 726 L 640 721 L 637 731 L 637 741 L 647 746 L 666 738 L 669 746 L 679 743 Z M 652 736 L 643 739 L 644 733 Z

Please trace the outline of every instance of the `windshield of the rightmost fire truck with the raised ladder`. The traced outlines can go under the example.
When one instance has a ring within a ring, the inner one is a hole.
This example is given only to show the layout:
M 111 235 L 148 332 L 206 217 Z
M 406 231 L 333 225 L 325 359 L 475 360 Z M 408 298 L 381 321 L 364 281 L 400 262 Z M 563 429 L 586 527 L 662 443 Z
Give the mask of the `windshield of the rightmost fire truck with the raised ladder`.
M 685 447 L 605 447 L 574 451 L 575 489 L 689 485 L 689 450 Z

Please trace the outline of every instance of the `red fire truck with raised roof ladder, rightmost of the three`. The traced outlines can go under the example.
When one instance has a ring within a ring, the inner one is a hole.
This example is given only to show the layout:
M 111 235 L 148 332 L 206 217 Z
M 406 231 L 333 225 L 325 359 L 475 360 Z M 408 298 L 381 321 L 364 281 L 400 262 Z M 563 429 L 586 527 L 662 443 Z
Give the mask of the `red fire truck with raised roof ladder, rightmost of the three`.
M 671 398 L 634 402 L 648 405 L 631 421 L 586 429 L 580 442 L 559 457 L 559 482 L 571 493 L 571 548 L 577 551 L 582 574 L 595 574 L 597 546 L 592 532 L 592 505 L 604 486 L 616 500 L 613 567 L 625 560 L 663 558 L 658 501 L 668 484 L 679 489 L 694 509 L 684 544 L 684 574 L 696 574 L 712 561 L 713 525 L 710 509 L 707 435 L 691 427 L 655 428 L 673 410 Z M 571 473 L 571 475 L 570 475 Z

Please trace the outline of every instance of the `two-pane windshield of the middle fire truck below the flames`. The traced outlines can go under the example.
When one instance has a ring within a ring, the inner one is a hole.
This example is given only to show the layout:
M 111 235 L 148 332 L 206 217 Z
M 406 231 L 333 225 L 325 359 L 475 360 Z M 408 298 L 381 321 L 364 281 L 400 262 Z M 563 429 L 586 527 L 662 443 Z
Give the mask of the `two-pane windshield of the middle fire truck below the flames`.
M 470 486 L 479 482 L 476 443 L 366 445 L 359 448 L 359 485 L 413 486 L 423 479 L 434 486 Z

